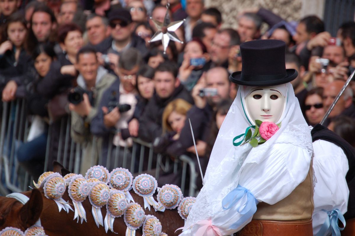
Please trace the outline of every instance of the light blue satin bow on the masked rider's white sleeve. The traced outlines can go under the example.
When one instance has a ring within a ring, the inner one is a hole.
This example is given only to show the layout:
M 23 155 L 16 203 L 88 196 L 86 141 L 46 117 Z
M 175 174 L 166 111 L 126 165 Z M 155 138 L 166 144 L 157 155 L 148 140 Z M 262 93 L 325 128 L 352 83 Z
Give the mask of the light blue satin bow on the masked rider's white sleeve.
M 238 185 L 238 187 L 236 187 L 234 190 L 230 191 L 230 193 L 228 193 L 227 196 L 225 196 L 222 200 L 223 210 L 228 210 L 232 208 L 237 202 L 239 202 L 242 197 L 245 196 L 245 194 L 247 196 L 246 203 L 237 209 L 237 212 L 243 216 L 241 216 L 239 220 L 230 226 L 232 229 L 239 228 L 250 217 L 252 217 L 256 212 L 256 205 L 259 202 L 249 190 L 240 185 Z

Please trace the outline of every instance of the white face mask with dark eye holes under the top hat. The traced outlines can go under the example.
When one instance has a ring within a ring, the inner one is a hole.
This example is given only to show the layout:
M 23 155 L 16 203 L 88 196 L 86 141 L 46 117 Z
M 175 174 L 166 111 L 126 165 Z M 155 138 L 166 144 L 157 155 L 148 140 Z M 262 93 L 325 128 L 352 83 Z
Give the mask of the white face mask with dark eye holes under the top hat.
M 276 123 L 284 110 L 285 96 L 275 87 L 253 87 L 245 94 L 245 105 L 252 121 Z

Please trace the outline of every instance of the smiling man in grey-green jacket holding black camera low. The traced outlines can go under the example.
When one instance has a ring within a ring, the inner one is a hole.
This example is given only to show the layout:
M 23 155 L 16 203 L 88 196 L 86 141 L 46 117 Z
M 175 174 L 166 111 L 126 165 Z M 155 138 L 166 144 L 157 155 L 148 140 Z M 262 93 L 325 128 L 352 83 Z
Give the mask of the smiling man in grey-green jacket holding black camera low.
M 97 164 L 100 142 L 93 143 L 90 125 L 97 113 L 104 91 L 113 86 L 117 78 L 108 73 L 96 57 L 96 50 L 86 46 L 78 51 L 75 68 L 79 71 L 78 86 L 68 95 L 71 110 L 71 137 L 84 145 L 81 173 Z M 96 147 L 93 148 L 93 145 Z M 94 152 L 94 153 L 93 153 Z

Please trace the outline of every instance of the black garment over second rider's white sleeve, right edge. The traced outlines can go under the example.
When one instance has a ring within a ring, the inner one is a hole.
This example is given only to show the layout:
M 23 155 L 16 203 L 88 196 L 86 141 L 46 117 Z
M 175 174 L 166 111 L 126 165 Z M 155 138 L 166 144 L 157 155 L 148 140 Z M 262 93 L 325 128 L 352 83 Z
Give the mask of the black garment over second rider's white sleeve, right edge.
M 348 142 L 346 142 L 342 137 L 338 136 L 331 130 L 328 130 L 326 127 L 318 124 L 312 131 L 312 142 L 315 142 L 318 139 L 322 139 L 343 149 L 346 158 L 349 162 L 349 170 L 345 176 L 346 182 L 349 187 L 349 202 L 348 202 L 348 211 L 344 214 L 345 219 L 355 218 L 355 149 Z

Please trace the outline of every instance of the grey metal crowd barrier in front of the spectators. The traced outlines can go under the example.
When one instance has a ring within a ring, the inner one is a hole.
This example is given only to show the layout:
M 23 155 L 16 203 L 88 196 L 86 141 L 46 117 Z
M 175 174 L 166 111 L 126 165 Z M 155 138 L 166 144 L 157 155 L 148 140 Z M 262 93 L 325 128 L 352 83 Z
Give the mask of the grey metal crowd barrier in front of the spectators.
M 29 190 L 33 185 L 33 178 L 28 171 L 19 165 L 17 160 L 17 149 L 22 143 L 27 142 L 27 137 L 32 116 L 26 114 L 26 100 L 18 99 L 10 103 L 2 103 L 0 120 L 0 195 L 10 192 L 22 192 Z M 44 170 L 48 171 L 50 156 L 56 155 L 56 160 L 73 173 L 80 172 L 80 163 L 83 155 L 83 145 L 75 143 L 70 137 L 70 119 L 61 119 L 59 143 L 57 153 L 51 150 L 51 140 L 55 138 L 52 134 L 51 126 L 48 128 L 48 137 L 45 150 Z M 100 137 L 93 137 L 93 143 L 97 143 Z M 195 162 L 187 155 L 182 155 L 179 159 L 171 160 L 162 154 L 154 153 L 152 143 L 147 143 L 141 139 L 132 138 L 133 145 L 128 147 L 113 146 L 113 135 L 109 137 L 108 154 L 104 166 L 109 171 L 116 167 L 127 168 L 133 176 L 141 173 L 148 173 L 158 180 L 159 176 L 173 170 L 175 175 L 181 177 L 181 190 L 184 196 L 196 196 L 197 186 Z M 95 153 L 96 145 L 92 146 L 92 154 Z M 102 152 L 99 150 L 98 163 L 103 161 Z M 122 154 L 123 153 L 123 154 Z M 113 157 L 113 158 L 110 158 Z M 120 160 L 122 158 L 122 160 Z M 113 159 L 113 163 L 112 160 Z M 94 159 L 91 158 L 91 166 Z M 122 163 L 121 165 L 119 163 Z M 35 180 L 37 181 L 37 180 Z

